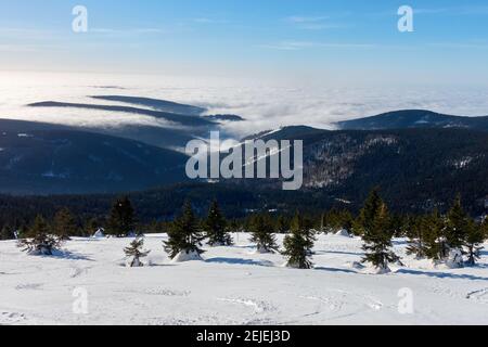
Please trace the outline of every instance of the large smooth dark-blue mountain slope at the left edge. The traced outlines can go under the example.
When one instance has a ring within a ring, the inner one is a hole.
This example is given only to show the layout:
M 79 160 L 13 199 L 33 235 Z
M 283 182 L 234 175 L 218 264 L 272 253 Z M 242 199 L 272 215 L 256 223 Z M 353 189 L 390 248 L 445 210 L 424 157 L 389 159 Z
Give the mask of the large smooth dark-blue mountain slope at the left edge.
M 0 191 L 125 192 L 184 181 L 187 156 L 120 138 L 0 119 Z

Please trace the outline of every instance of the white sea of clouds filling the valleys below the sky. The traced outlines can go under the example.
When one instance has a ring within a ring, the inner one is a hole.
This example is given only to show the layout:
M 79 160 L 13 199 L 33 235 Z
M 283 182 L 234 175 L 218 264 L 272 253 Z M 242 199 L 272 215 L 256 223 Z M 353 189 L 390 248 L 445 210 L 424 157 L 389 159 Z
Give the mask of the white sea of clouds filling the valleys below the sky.
M 338 120 L 404 108 L 462 116 L 488 115 L 487 87 L 332 87 L 325 82 L 217 77 L 0 73 L 0 118 L 84 127 L 131 124 L 171 127 L 144 115 L 26 106 L 41 101 L 117 104 L 88 98 L 108 94 L 163 99 L 205 106 L 209 114 L 240 115 L 246 120 L 224 126 L 235 138 L 291 125 L 333 129 Z

